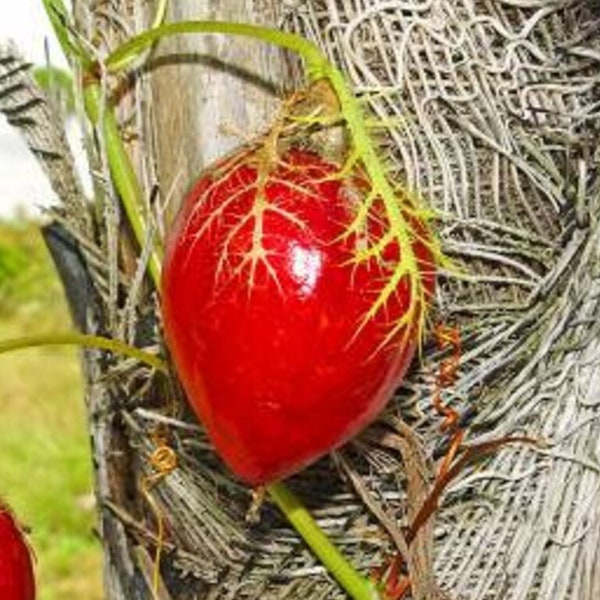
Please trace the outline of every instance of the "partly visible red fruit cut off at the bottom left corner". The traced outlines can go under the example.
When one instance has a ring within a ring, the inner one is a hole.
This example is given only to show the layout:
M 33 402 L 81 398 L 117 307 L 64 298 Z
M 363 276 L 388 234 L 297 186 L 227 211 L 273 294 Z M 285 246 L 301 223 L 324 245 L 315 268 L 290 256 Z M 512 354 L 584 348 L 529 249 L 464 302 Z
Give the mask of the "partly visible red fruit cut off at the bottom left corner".
M 0 598 L 34 600 L 35 580 L 29 547 L 15 519 L 0 501 Z

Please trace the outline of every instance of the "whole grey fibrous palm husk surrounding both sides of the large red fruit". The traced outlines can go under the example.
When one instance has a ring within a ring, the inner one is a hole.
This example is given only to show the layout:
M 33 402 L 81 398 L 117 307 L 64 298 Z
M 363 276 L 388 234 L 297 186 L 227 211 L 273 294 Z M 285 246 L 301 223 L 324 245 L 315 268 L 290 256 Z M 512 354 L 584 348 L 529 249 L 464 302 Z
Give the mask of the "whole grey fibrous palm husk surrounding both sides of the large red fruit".
M 100 21 L 105 33 L 107 24 L 118 30 L 119 14 L 139 24 L 127 3 L 91 12 L 84 4 L 86 36 Z M 311 0 L 281 11 L 282 27 L 344 69 L 384 125 L 390 168 L 438 213 L 458 268 L 440 277 L 435 317 L 460 326 L 463 342 L 444 399 L 476 409 L 467 443 L 538 441 L 507 445 L 452 483 L 409 553 L 414 596 L 438 597 L 441 588 L 476 600 L 599 597 L 597 4 Z M 165 177 L 141 100 L 146 76 L 123 118 L 139 135 L 131 149 L 150 199 Z M 101 144 L 93 154 L 96 230 L 78 229 L 68 210 L 63 219 L 85 240 L 84 262 L 108 258 L 89 270 L 99 307 L 90 326 L 152 349 L 156 299 L 142 283 L 144 261 L 123 258 L 133 253 L 118 243 L 122 218 Z M 159 232 L 161 202 L 148 204 Z M 290 482 L 364 572 L 403 549 L 402 527 L 430 488 L 443 439 L 431 407 L 441 359 L 426 345 L 380 422 Z M 176 387 L 131 361 L 93 354 L 88 364 L 111 600 L 151 597 L 156 514 L 140 485 L 153 473 L 157 431 L 177 456 L 150 491 L 168 532 L 161 597 L 344 597 L 270 505 L 246 522 L 248 490 L 224 470 Z

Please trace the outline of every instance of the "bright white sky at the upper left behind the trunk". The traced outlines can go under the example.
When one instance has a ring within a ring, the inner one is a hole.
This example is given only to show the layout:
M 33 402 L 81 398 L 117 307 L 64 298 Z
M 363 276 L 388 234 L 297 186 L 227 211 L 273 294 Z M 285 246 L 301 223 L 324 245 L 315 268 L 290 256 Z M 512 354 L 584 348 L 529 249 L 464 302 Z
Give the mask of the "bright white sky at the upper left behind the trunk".
M 54 41 L 41 0 L 2 2 L 0 44 L 12 40 L 21 54 L 35 64 L 46 64 L 45 44 L 50 62 L 64 66 L 65 60 Z M 48 182 L 19 134 L 0 115 L 0 218 L 24 207 L 28 213 L 39 212 L 54 196 Z

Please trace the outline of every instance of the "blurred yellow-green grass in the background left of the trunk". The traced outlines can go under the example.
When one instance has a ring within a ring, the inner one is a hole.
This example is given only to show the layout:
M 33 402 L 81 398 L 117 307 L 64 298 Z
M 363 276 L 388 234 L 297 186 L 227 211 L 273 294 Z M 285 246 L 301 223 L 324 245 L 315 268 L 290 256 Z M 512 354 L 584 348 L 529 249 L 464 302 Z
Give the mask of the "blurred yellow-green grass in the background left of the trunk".
M 35 225 L 0 222 L 2 265 L 1 338 L 71 327 Z M 38 599 L 100 600 L 78 354 L 38 348 L 2 355 L 0 382 L 0 495 L 32 530 Z

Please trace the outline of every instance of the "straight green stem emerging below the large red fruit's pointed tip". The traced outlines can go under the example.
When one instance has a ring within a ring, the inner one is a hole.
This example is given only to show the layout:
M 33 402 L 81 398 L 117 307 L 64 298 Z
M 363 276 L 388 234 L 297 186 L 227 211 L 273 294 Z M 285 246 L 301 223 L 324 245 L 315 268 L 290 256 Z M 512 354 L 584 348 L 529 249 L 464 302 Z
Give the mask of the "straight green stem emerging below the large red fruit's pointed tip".
M 272 483 L 267 490 L 325 568 L 354 600 L 379 599 L 375 585 L 354 569 L 285 484 Z

